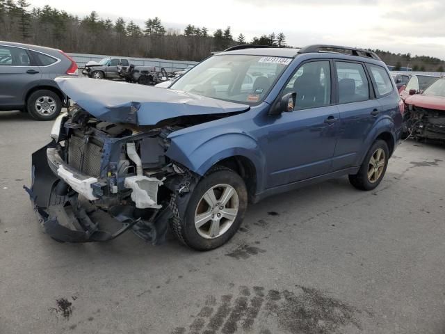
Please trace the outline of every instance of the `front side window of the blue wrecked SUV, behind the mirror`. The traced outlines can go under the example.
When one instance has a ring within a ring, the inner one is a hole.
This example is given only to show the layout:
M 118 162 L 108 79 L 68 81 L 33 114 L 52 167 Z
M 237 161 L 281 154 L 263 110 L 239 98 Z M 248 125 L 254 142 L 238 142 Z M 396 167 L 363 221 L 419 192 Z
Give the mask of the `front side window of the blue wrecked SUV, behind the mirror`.
M 331 102 L 329 61 L 312 61 L 301 65 L 284 88 L 284 94 L 295 92 L 294 110 L 327 106 Z

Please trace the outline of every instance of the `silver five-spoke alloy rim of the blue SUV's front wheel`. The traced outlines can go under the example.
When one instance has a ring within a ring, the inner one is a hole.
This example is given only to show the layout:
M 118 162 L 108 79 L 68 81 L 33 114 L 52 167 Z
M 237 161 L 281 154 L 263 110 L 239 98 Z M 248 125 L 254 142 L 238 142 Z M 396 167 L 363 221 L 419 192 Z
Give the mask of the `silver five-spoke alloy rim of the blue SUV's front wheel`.
M 195 210 L 195 228 L 201 237 L 215 239 L 223 235 L 238 214 L 238 193 L 229 184 L 217 184 L 206 191 Z

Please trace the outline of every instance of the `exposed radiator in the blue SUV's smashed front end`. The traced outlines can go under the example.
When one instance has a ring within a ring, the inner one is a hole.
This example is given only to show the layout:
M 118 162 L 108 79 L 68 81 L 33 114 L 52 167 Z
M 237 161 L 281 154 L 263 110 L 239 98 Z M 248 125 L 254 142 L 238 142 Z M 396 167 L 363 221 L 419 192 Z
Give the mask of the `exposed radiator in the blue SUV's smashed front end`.
M 74 134 L 68 139 L 68 164 L 83 174 L 99 177 L 102 160 L 101 151 L 102 146 L 93 142 L 91 138 L 88 143 L 85 143 L 83 136 Z

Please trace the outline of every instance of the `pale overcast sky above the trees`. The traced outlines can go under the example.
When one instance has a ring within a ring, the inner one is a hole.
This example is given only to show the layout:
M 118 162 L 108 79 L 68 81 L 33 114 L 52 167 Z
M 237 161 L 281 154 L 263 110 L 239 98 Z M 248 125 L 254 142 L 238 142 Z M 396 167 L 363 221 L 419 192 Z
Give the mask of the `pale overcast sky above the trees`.
M 79 16 L 95 10 L 99 17 L 143 26 L 158 16 L 165 28 L 186 24 L 210 32 L 232 27 L 236 37 L 283 32 L 294 47 L 336 44 L 411 52 L 445 59 L 445 0 L 29 0 Z

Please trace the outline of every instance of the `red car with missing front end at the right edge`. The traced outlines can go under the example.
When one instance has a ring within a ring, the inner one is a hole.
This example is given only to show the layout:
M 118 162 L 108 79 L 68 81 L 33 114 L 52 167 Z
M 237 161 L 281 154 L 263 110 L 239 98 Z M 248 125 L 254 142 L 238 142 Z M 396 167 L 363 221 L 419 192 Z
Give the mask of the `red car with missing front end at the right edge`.
M 435 81 L 423 93 L 407 97 L 405 104 L 405 134 L 445 141 L 445 77 Z

